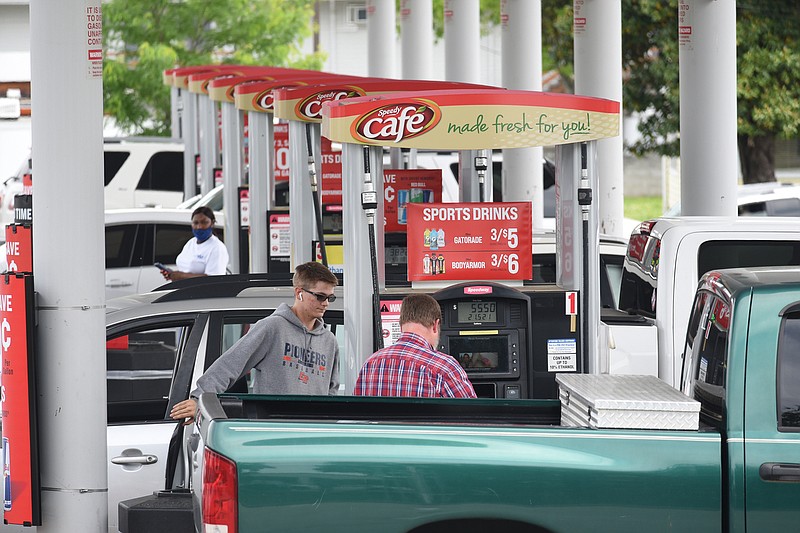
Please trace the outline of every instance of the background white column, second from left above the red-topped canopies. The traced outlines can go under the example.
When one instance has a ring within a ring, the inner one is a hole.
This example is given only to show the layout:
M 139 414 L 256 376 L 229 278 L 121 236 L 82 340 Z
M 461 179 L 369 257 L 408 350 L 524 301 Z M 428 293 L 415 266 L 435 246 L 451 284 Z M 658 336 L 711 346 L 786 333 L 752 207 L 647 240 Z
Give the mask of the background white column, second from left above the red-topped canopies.
M 436 78 L 433 75 L 432 0 L 400 0 L 400 48 L 404 79 Z

